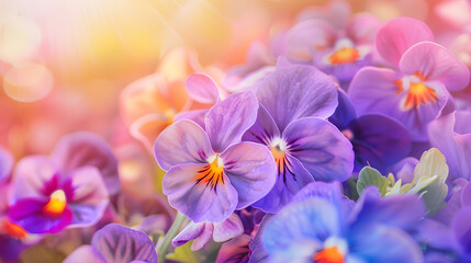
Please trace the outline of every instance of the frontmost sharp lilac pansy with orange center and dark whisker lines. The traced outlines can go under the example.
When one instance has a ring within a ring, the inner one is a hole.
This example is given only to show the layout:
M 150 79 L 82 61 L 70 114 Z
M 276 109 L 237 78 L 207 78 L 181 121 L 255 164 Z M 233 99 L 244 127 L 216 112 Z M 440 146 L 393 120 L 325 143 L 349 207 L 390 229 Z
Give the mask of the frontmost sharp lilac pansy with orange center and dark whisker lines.
M 173 208 L 195 222 L 220 222 L 271 190 L 276 164 L 270 151 L 240 141 L 257 108 L 254 93 L 242 92 L 210 110 L 205 129 L 182 119 L 160 133 L 155 156 L 167 171 L 164 194 Z

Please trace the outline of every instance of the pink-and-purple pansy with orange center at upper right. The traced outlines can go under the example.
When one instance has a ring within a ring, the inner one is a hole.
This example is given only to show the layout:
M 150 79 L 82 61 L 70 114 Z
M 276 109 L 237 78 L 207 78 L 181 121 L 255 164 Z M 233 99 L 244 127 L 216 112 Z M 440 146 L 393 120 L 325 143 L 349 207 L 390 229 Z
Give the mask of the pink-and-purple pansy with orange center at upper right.
M 468 68 L 433 39 L 427 25 L 408 18 L 391 20 L 379 31 L 378 52 L 395 68 L 358 71 L 349 95 L 359 115 L 389 115 L 408 128 L 413 140 L 427 140 L 426 126 L 445 111 L 448 91 L 464 89 L 470 79 Z

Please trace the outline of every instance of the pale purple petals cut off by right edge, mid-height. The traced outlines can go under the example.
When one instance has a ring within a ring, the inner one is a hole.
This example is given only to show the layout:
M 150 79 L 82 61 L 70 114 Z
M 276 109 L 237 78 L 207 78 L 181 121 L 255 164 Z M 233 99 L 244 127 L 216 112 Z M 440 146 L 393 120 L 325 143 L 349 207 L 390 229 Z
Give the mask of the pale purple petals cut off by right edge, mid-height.
M 430 146 L 444 153 L 450 169 L 449 181 L 471 180 L 471 113 L 457 111 L 428 125 Z

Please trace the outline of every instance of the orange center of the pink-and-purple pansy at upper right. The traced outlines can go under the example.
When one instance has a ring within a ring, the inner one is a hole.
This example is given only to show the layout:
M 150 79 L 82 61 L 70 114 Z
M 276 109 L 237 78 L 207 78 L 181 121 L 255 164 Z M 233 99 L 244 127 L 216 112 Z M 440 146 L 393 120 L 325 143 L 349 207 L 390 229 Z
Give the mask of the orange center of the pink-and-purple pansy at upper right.
M 437 102 L 438 96 L 435 90 L 428 88 L 423 82 L 426 81 L 426 77 L 420 71 L 415 72 L 413 76 L 418 78 L 418 82 L 411 81 L 407 95 L 404 101 L 404 108 L 418 108 L 420 105 L 428 102 Z M 396 94 L 404 92 L 404 85 L 402 80 L 394 81 L 394 84 L 397 85 Z

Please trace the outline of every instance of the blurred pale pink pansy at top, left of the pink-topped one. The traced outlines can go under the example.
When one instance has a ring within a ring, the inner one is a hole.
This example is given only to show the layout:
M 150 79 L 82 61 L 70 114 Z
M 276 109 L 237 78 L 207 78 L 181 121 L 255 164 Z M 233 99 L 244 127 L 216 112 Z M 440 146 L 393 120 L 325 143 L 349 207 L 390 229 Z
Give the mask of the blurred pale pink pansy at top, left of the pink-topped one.
M 330 9 L 335 21 L 315 9 L 300 15 L 301 21 L 285 35 L 285 56 L 293 61 L 312 62 L 340 81 L 349 81 L 358 69 L 371 65 L 374 35 L 381 22 L 365 13 L 348 20 L 347 2 L 333 2 Z M 345 16 L 338 19 L 338 14 Z

